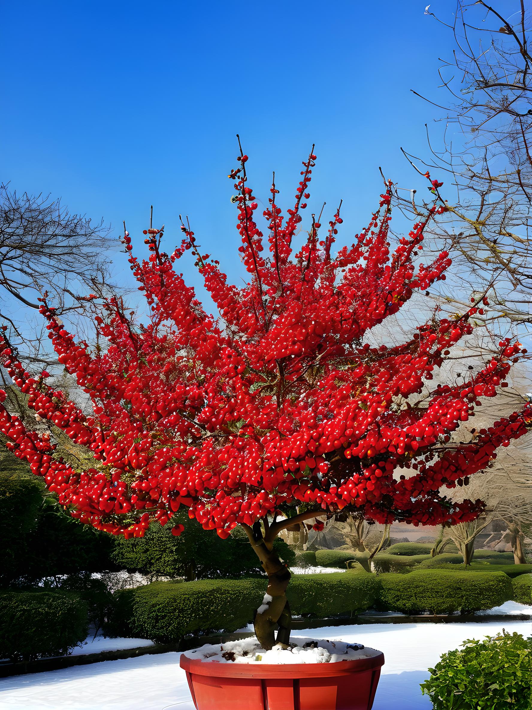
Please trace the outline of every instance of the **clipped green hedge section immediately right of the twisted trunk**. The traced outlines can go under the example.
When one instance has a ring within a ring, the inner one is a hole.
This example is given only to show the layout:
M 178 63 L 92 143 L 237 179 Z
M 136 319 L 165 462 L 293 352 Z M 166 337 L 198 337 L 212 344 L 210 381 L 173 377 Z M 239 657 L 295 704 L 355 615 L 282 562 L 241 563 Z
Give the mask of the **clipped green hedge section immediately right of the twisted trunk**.
M 292 613 L 301 616 L 355 616 L 375 606 L 379 589 L 379 578 L 367 572 L 296 574 L 287 596 Z

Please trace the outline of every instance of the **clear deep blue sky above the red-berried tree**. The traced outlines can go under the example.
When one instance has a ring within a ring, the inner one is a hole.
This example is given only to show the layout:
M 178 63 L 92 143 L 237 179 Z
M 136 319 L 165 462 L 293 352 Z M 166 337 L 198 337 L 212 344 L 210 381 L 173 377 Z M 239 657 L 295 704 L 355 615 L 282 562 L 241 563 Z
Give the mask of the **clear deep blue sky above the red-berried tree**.
M 275 170 L 285 206 L 316 143 L 307 212 L 343 197 L 350 239 L 377 205 L 379 165 L 419 187 L 399 146 L 426 153 L 434 109 L 409 89 L 436 96 L 438 56 L 453 46 L 426 4 L 4 0 L 0 179 L 62 197 L 117 236 L 126 219 L 134 244 L 150 204 L 169 248 L 189 214 L 236 278 L 235 133 L 257 197 Z

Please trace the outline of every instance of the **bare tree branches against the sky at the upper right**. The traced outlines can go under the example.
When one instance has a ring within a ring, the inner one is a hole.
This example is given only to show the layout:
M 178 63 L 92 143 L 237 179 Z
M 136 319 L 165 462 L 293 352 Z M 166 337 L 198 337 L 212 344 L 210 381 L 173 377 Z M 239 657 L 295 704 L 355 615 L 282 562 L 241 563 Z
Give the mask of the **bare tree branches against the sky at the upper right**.
M 430 6 L 429 6 L 430 8 Z M 433 13 L 426 13 L 435 17 Z M 445 181 L 445 212 L 433 231 L 455 261 L 461 293 L 448 301 L 462 307 L 469 296 L 489 296 L 484 322 L 532 324 L 532 56 L 531 23 L 523 0 L 496 9 L 483 0 L 462 3 L 436 18 L 453 34 L 452 57 L 441 60 L 440 88 L 423 98 L 442 117 L 428 131 L 430 158 L 406 153 L 421 175 Z M 418 92 L 414 92 L 418 94 Z M 421 94 L 418 94 L 421 95 Z M 438 132 L 438 126 L 442 129 Z M 450 179 L 450 180 L 449 180 Z M 438 191 L 432 182 L 429 190 Z M 399 187 L 402 209 L 419 212 L 416 190 Z M 443 199 L 442 199 L 443 202 Z M 467 293 L 469 290 L 469 293 Z M 470 305 L 470 303 L 469 303 Z M 482 305 L 482 304 L 481 304 Z M 481 319 L 482 320 L 482 319 Z

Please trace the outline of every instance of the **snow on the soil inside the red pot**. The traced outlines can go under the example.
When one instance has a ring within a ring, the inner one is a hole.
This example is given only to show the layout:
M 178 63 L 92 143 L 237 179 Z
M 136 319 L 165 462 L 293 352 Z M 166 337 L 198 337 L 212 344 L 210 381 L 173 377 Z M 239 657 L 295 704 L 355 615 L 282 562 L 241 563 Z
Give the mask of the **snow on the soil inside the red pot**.
M 237 641 L 228 641 L 223 645 L 206 643 L 201 648 L 185 651 L 189 658 L 209 660 L 219 663 L 275 663 L 287 665 L 289 663 L 336 663 L 353 661 L 358 658 L 371 658 L 379 651 L 375 648 L 350 648 L 344 641 L 316 640 L 314 638 L 291 637 L 291 643 L 297 644 L 294 648 L 281 648 L 274 646 L 272 650 L 265 651 L 255 636 L 241 638 Z

